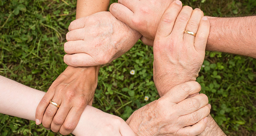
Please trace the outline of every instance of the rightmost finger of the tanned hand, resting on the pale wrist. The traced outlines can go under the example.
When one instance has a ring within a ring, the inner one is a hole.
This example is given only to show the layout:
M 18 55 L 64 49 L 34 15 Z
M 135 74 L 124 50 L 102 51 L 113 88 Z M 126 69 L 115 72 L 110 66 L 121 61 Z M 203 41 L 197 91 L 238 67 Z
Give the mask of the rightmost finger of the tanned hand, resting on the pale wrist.
M 86 105 L 84 105 L 86 106 Z M 84 109 L 84 108 L 81 108 Z M 76 127 L 83 110 L 81 110 L 76 107 L 72 107 L 63 123 L 63 125 L 60 127 L 60 134 L 62 135 L 68 135 L 70 134 Z

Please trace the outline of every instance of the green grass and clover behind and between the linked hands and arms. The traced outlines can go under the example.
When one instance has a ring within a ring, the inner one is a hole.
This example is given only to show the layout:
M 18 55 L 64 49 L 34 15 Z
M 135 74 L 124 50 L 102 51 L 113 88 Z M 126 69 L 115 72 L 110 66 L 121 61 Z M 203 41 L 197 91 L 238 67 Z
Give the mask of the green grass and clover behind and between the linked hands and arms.
M 111 2 L 116 2 L 112 0 Z M 255 0 L 183 0 L 208 16 L 256 14 Z M 68 4 L 67 4 L 68 3 Z M 47 91 L 67 67 L 63 44 L 75 19 L 71 0 L 0 1 L 0 75 Z M 153 49 L 140 41 L 126 54 L 100 69 L 94 106 L 127 119 L 159 98 L 153 83 Z M 211 115 L 227 135 L 256 135 L 256 60 L 207 52 L 197 81 L 209 97 Z M 136 73 L 131 75 L 130 70 Z M 148 96 L 149 101 L 144 101 Z M 0 114 L 0 135 L 59 135 L 34 121 Z

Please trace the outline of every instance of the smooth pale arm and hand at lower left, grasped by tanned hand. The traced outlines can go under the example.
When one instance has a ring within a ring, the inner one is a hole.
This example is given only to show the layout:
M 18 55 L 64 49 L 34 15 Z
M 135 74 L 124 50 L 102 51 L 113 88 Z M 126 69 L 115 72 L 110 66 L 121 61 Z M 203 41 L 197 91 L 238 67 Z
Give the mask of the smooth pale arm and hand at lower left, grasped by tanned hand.
M 44 94 L 43 91 L 0 76 L 0 113 L 34 121 L 35 110 Z M 135 136 L 123 119 L 89 105 L 84 109 L 72 134 Z

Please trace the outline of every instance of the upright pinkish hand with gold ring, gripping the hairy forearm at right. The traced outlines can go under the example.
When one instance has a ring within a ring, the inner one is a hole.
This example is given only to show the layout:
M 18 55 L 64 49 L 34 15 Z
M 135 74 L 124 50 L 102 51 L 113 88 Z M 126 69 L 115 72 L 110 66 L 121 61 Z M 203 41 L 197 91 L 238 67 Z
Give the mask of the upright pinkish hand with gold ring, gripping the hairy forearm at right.
M 160 96 L 170 87 L 196 81 L 210 32 L 210 22 L 200 9 L 176 2 L 162 16 L 154 41 L 154 81 Z

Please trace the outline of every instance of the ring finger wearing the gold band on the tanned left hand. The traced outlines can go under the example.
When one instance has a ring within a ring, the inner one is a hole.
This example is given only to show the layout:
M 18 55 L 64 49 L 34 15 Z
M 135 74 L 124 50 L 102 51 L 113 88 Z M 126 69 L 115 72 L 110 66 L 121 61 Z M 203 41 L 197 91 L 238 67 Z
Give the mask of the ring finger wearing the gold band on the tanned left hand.
M 53 97 L 53 102 L 57 103 L 57 104 L 61 104 L 61 99 L 56 98 L 56 95 Z M 58 110 L 58 107 L 56 107 L 53 104 L 49 104 L 48 107 L 45 110 L 43 119 L 42 119 L 42 124 L 44 126 L 44 128 L 46 129 L 50 129 L 51 128 L 51 123 L 53 121 L 53 117 L 55 116 L 56 112 Z

